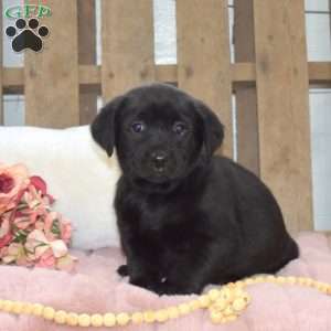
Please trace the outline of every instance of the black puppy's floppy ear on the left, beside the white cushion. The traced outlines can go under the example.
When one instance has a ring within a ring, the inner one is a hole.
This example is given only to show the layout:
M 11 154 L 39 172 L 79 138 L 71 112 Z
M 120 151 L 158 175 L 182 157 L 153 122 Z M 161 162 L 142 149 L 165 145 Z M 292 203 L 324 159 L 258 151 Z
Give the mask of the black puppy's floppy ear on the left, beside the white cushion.
M 111 157 L 115 147 L 115 117 L 124 97 L 119 96 L 105 105 L 90 125 L 93 139 Z

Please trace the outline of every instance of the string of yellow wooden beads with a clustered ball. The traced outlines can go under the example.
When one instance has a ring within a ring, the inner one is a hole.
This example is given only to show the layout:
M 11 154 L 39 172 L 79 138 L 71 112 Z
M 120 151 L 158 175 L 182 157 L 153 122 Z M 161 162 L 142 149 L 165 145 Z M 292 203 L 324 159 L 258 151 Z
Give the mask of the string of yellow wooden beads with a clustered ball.
M 247 307 L 250 301 L 249 295 L 244 290 L 247 285 L 257 282 L 274 282 L 278 285 L 289 284 L 316 288 L 322 293 L 331 295 L 331 285 L 307 277 L 275 277 L 258 276 L 246 278 L 236 282 L 229 282 L 221 288 L 211 289 L 207 293 L 197 297 L 195 300 L 164 308 L 161 310 L 148 310 L 143 312 L 107 312 L 105 314 L 75 313 L 64 310 L 55 310 L 53 307 L 41 303 L 21 302 L 12 300 L 0 300 L 0 311 L 14 314 L 31 314 L 43 318 L 57 324 L 71 327 L 115 327 L 129 323 L 163 323 L 170 319 L 191 313 L 197 309 L 209 309 L 211 320 L 214 323 L 234 321 Z

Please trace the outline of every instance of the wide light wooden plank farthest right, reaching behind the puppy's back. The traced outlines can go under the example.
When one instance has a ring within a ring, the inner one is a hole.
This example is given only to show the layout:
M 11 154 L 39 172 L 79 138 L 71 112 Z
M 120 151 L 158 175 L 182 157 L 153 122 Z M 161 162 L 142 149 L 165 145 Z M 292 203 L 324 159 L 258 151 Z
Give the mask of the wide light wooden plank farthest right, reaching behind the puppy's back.
M 279 201 L 290 232 L 311 229 L 303 0 L 255 0 L 254 22 L 260 174 Z

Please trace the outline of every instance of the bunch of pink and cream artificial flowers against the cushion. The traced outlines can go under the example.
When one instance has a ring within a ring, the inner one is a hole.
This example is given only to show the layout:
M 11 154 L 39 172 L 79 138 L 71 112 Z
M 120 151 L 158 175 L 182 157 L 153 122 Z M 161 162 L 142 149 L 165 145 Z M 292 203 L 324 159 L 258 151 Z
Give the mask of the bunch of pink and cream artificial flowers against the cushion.
M 71 222 L 52 211 L 46 183 L 23 164 L 0 163 L 0 263 L 71 270 Z

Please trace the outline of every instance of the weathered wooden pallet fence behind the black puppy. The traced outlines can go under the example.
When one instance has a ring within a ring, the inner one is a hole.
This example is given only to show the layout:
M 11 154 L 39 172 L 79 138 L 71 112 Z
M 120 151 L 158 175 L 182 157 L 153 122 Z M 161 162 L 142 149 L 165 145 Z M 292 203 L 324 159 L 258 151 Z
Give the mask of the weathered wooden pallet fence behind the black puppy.
M 233 64 L 227 1 L 177 0 L 177 65 L 154 63 L 152 0 L 102 0 L 102 66 L 95 2 L 40 2 L 52 9 L 44 51 L 26 52 L 23 68 L 2 66 L 0 75 L 1 93 L 24 94 L 26 125 L 87 124 L 98 95 L 175 83 L 220 115 L 231 157 L 235 93 L 238 161 L 268 183 L 292 233 L 312 228 L 308 90 L 330 86 L 331 63 L 307 62 L 303 0 L 235 0 Z

